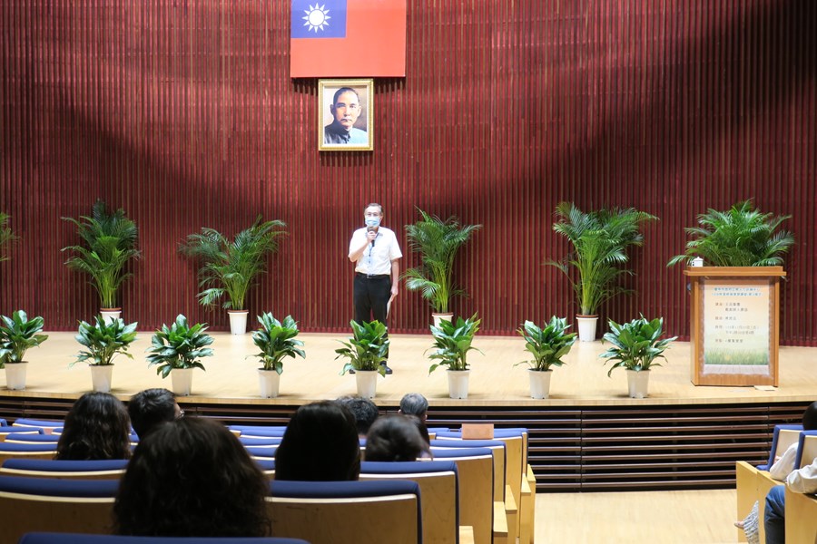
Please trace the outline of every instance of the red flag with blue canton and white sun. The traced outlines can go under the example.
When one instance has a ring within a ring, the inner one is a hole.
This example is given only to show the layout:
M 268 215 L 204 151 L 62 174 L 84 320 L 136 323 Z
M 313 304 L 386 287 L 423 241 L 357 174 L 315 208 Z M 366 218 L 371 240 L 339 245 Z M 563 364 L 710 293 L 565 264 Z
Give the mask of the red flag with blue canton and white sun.
M 292 0 L 290 77 L 406 75 L 406 0 Z

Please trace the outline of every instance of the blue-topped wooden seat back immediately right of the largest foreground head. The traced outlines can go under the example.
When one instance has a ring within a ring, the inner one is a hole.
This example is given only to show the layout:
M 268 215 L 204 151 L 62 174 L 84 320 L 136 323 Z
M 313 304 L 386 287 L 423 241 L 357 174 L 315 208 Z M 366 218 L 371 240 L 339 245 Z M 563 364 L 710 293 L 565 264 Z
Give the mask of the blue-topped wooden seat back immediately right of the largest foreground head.
M 420 491 L 414 481 L 272 481 L 272 536 L 312 544 L 418 544 Z

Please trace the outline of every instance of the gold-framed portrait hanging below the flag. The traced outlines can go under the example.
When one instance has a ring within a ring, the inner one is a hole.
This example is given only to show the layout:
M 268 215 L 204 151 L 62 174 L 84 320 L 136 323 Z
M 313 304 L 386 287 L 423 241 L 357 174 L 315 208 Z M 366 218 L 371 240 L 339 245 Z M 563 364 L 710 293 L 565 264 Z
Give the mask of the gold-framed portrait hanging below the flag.
M 372 151 L 374 80 L 318 80 L 318 150 Z

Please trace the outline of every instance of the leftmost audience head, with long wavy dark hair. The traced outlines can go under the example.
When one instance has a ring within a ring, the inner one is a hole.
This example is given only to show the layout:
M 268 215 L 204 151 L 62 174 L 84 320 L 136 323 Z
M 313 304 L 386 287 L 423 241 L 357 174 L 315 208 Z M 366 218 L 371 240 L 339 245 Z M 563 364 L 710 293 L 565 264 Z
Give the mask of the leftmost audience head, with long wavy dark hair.
M 131 457 L 131 420 L 110 393 L 85 393 L 65 416 L 54 459 L 99 461 Z

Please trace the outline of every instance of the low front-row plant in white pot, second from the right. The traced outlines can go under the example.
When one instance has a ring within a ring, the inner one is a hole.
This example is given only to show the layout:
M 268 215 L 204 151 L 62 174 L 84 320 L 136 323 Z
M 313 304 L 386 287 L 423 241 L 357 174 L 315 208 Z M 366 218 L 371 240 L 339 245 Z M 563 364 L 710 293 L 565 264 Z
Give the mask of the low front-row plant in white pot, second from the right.
M 530 396 L 546 399 L 550 392 L 551 366 L 564 364 L 562 357 L 570 353 L 576 343 L 576 333 L 568 333 L 565 317 L 552 316 L 544 328 L 532 321 L 526 321 L 517 331 L 525 338 L 525 349 L 533 359 L 517 364 L 529 364 Z

